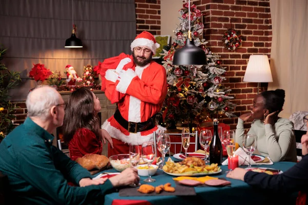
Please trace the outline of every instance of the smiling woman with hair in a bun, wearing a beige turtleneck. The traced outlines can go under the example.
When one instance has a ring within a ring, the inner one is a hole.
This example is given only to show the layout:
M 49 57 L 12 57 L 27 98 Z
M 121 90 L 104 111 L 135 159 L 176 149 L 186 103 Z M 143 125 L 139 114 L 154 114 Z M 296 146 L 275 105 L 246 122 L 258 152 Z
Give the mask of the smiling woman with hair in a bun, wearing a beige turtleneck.
M 297 161 L 294 125 L 288 119 L 278 117 L 284 104 L 285 92 L 282 89 L 264 91 L 257 95 L 251 112 L 238 119 L 236 142 L 242 146 L 244 122 L 253 119 L 248 134 L 257 135 L 257 149 L 263 156 L 276 161 Z

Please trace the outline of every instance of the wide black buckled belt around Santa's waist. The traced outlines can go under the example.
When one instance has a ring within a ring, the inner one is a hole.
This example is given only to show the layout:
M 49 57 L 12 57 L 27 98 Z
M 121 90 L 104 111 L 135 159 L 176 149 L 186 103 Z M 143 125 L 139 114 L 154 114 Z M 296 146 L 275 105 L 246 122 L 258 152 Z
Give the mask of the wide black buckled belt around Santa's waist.
M 156 115 L 153 115 L 151 118 L 149 118 L 145 122 L 131 122 L 124 119 L 120 113 L 120 111 L 117 109 L 113 115 L 114 119 L 119 122 L 119 124 L 125 128 L 128 132 L 137 133 L 142 132 L 146 130 L 150 130 L 153 127 L 155 127 L 155 118 Z

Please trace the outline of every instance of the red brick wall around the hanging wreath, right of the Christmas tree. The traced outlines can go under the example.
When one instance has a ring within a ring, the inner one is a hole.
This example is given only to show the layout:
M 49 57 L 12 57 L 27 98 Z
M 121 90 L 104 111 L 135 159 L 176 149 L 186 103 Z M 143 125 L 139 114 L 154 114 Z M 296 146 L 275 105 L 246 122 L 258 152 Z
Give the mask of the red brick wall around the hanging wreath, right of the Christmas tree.
M 204 38 L 209 42 L 210 50 L 223 60 L 226 67 L 225 86 L 229 86 L 233 103 L 237 104 L 235 114 L 240 116 L 249 112 L 249 106 L 257 94 L 257 83 L 244 83 L 248 58 L 251 54 L 271 53 L 272 25 L 269 0 L 195 0 L 191 1 L 204 14 Z M 224 31 L 234 28 L 243 35 L 242 47 L 235 52 L 223 47 L 221 38 Z M 267 83 L 261 84 L 260 92 L 267 89 Z M 222 120 L 232 129 L 236 128 L 237 118 Z M 250 123 L 245 125 L 250 127 Z

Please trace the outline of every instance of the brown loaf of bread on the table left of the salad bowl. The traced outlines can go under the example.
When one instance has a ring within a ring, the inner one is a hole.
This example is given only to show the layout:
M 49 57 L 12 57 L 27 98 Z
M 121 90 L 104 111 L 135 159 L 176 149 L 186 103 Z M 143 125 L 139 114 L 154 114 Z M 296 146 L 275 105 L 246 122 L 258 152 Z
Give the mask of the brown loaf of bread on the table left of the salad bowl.
M 108 157 L 99 154 L 86 154 L 83 157 L 76 159 L 76 162 L 79 163 L 83 168 L 87 170 L 101 170 L 106 167 L 109 163 Z

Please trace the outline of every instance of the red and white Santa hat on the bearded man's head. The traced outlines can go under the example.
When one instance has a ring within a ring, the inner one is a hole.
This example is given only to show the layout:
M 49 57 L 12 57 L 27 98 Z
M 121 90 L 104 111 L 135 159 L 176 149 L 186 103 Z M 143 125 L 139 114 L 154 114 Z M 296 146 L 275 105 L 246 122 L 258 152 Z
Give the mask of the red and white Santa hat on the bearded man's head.
M 160 47 L 160 45 L 156 43 L 155 37 L 147 31 L 143 31 L 133 40 L 133 42 L 130 44 L 131 51 L 137 46 L 148 47 L 153 52 L 153 55 L 155 55 L 156 49 Z

